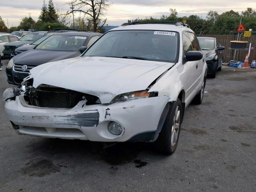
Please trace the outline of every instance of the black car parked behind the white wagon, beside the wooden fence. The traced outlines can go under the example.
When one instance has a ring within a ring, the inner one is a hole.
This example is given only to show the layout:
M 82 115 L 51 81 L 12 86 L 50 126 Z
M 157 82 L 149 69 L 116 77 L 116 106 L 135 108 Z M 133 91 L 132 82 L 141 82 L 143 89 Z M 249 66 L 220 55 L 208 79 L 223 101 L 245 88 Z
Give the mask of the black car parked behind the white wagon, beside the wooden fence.
M 217 70 L 221 70 L 222 67 L 222 50 L 224 46 L 220 46 L 220 43 L 216 38 L 212 37 L 198 37 L 200 47 L 206 54 L 207 74 L 211 78 L 215 78 Z

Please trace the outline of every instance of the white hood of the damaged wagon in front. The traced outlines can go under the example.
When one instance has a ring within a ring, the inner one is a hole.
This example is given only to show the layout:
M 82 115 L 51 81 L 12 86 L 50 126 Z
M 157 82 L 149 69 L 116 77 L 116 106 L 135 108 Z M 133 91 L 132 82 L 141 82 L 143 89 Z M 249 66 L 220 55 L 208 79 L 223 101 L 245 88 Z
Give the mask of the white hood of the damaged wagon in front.
M 48 84 L 98 96 L 103 104 L 119 94 L 146 90 L 174 63 L 108 58 L 78 57 L 51 62 L 30 70 L 33 86 Z

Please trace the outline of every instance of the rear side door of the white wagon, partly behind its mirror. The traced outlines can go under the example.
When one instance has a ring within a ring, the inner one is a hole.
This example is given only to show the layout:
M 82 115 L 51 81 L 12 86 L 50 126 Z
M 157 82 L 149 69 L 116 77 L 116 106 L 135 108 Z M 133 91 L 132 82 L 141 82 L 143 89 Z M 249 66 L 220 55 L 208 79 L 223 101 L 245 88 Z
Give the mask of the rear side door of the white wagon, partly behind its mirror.
M 199 44 L 199 41 L 196 37 L 196 35 L 194 33 L 191 33 L 191 32 L 188 32 L 188 35 L 189 35 L 189 38 L 190 38 L 190 41 L 192 43 L 192 49 L 193 51 L 201 51 L 201 47 L 200 47 L 200 44 Z M 196 70 L 195 70 L 195 78 L 196 78 L 196 87 L 197 86 L 201 86 L 201 83 L 202 83 L 202 80 L 203 80 L 203 77 L 204 74 L 203 74 L 203 69 L 204 69 L 204 57 L 199 60 L 199 61 L 195 61 L 196 62 Z

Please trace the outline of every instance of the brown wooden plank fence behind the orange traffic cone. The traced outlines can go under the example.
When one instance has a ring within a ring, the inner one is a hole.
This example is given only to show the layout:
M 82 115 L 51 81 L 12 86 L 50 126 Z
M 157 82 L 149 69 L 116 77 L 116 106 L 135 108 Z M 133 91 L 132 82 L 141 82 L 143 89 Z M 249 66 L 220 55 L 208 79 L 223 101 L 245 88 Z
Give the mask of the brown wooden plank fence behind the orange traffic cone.
M 198 35 L 199 36 L 199 35 Z M 237 35 L 200 35 L 201 37 L 215 37 L 219 42 L 220 45 L 225 46 L 225 49 L 223 51 L 223 62 L 228 62 L 230 60 L 234 60 L 234 53 L 235 50 L 229 49 L 230 48 L 230 41 L 237 40 Z M 252 59 L 256 58 L 256 35 L 252 35 L 251 37 L 239 37 L 241 41 L 248 41 L 247 47 L 249 49 L 250 42 L 252 43 L 252 47 L 254 48 L 250 52 L 249 57 L 249 64 L 251 64 Z M 248 53 L 249 50 L 236 50 L 236 61 L 244 62 L 246 53 Z

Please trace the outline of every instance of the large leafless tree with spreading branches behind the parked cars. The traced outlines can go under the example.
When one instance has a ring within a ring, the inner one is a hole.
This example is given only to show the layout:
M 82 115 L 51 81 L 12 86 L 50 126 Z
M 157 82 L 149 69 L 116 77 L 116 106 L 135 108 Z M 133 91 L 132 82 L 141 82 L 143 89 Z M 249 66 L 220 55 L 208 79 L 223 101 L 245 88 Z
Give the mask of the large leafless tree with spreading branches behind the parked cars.
M 68 12 L 68 14 L 72 12 L 84 13 L 88 20 L 92 21 L 94 32 L 97 31 L 98 27 L 101 28 L 106 23 L 107 18 L 102 20 L 101 17 L 104 15 L 104 10 L 110 5 L 108 0 L 73 0 L 68 4 L 73 4 L 74 6 L 74 9 Z

